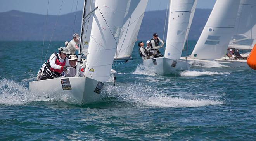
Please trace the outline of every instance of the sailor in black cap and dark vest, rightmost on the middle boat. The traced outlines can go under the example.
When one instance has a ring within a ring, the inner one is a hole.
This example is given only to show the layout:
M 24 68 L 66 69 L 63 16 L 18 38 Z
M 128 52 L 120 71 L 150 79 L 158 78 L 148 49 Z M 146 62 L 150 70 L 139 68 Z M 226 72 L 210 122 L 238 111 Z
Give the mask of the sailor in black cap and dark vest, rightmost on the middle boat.
M 161 42 L 161 45 L 159 46 L 159 42 Z M 159 51 L 159 48 L 163 47 L 164 42 L 158 37 L 157 33 L 153 34 L 153 38 L 150 41 L 150 49 L 154 50 L 154 58 L 162 57 L 163 55 Z

